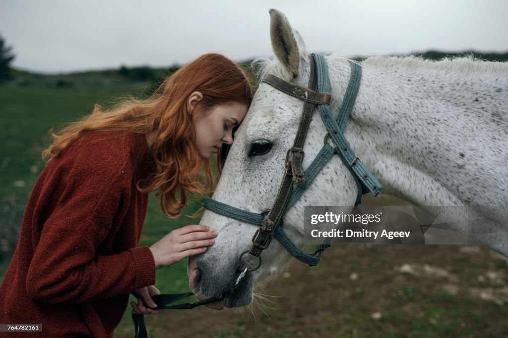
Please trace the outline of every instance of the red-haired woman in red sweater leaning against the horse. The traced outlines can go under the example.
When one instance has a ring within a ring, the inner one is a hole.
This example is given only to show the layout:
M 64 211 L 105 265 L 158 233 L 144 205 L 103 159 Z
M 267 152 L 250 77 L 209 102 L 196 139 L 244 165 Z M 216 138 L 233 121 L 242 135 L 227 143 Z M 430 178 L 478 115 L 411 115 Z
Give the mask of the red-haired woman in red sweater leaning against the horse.
M 43 152 L 50 160 L 30 195 L 11 265 L 0 287 L 0 323 L 39 323 L 34 336 L 111 337 L 128 303 L 157 311 L 155 270 L 202 253 L 216 233 L 177 229 L 137 247 L 148 193 L 177 216 L 186 194 L 210 194 L 209 159 L 233 142 L 252 91 L 243 71 L 203 55 L 146 100 L 108 112 L 99 106 L 70 124 Z M 223 157 L 218 156 L 219 170 Z M 199 179 L 204 167 L 204 178 Z M 6 333 L 4 336 L 27 332 Z

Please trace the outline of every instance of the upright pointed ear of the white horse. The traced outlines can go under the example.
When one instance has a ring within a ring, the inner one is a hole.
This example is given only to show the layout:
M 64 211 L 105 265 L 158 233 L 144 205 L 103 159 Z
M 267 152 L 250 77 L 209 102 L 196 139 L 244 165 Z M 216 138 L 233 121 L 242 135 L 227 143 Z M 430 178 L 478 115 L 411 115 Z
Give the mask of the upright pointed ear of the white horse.
M 300 67 L 300 54 L 307 55 L 303 39 L 297 31 L 293 31 L 283 13 L 275 9 L 271 9 L 269 13 L 273 52 L 293 78 L 296 78 Z

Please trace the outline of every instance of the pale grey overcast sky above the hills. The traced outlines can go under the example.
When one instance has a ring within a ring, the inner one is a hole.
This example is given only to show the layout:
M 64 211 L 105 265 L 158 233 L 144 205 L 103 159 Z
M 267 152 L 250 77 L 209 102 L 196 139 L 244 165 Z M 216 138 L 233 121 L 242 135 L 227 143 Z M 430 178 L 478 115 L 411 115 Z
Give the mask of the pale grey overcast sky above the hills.
M 508 51 L 506 0 L 0 0 L 0 34 L 13 66 L 38 72 L 241 61 L 273 55 L 270 8 L 310 52 Z

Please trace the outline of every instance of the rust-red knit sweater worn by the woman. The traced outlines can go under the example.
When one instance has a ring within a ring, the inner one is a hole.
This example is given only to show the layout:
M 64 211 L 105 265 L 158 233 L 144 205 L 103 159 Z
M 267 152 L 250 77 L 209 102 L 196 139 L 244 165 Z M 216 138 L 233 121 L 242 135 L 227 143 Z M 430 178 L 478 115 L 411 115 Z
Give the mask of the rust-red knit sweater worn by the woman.
M 0 323 L 43 332 L 0 337 L 112 337 L 129 293 L 155 283 L 153 256 L 136 247 L 154 171 L 144 135 L 93 133 L 51 159 L 25 209 L 0 287 Z

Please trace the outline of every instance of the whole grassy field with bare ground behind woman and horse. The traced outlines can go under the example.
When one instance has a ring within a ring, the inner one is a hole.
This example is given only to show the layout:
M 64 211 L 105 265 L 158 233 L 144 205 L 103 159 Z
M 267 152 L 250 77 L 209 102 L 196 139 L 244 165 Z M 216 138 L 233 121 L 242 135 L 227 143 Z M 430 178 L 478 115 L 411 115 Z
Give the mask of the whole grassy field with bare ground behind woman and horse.
M 94 103 L 151 88 L 114 71 L 18 78 L 0 87 L 0 235 L 19 229 L 44 168 L 41 151 L 50 128 L 88 114 Z M 185 211 L 198 207 L 193 200 Z M 140 245 L 198 221 L 168 219 L 152 196 Z M 9 258 L 0 260 L 0 281 Z M 152 336 L 508 337 L 506 271 L 499 255 L 477 246 L 337 245 L 319 267 L 295 263 L 261 291 L 274 296 L 268 296 L 272 303 L 262 301 L 252 312 L 200 308 L 146 321 Z M 187 291 L 185 262 L 158 270 L 155 285 L 163 293 Z M 115 336 L 133 335 L 130 311 Z

